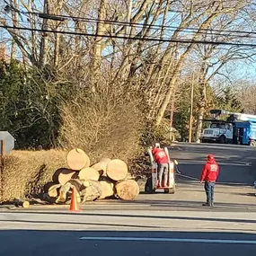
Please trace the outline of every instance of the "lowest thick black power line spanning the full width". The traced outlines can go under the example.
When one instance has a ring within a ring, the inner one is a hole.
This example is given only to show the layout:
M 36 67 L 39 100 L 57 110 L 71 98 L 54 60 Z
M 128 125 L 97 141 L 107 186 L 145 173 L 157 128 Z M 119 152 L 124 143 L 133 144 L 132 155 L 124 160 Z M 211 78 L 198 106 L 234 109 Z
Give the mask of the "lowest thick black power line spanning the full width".
M 50 31 L 45 29 L 31 29 L 31 28 L 22 28 L 22 27 L 13 27 L 13 26 L 4 26 L 0 25 L 0 28 L 9 29 L 9 30 L 20 30 L 20 31 L 38 31 L 45 33 L 60 33 L 68 34 L 75 36 L 87 36 L 87 37 L 101 37 L 109 39 L 122 39 L 122 40 L 146 40 L 146 41 L 158 41 L 158 42 L 175 42 L 175 43 L 184 43 L 184 44 L 212 44 L 212 45 L 227 45 L 227 46 L 237 46 L 237 47 L 251 47 L 256 48 L 256 44 L 249 43 L 234 43 L 234 42 L 221 42 L 221 41 L 208 41 L 208 40 L 172 40 L 172 39 L 156 39 L 156 38 L 132 38 L 127 36 L 116 36 L 116 35 L 97 35 L 90 33 L 80 33 L 80 32 L 71 32 L 71 31 Z

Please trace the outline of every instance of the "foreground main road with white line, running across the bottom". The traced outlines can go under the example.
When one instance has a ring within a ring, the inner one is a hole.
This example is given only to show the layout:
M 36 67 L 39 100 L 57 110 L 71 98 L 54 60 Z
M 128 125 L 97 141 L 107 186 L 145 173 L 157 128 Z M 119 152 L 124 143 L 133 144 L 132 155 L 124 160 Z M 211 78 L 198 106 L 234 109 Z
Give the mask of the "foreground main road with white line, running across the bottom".
M 254 213 L 83 211 L 2 213 L 1 255 L 256 253 Z

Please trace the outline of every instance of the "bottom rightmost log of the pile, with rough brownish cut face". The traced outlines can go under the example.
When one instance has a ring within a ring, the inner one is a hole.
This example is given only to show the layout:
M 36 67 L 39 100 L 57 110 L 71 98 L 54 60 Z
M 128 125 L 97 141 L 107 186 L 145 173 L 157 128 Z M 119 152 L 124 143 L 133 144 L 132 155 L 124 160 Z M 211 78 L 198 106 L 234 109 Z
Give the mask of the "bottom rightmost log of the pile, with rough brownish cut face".
M 119 199 L 133 200 L 136 199 L 139 194 L 139 186 L 137 181 L 119 181 L 116 186 L 116 194 Z

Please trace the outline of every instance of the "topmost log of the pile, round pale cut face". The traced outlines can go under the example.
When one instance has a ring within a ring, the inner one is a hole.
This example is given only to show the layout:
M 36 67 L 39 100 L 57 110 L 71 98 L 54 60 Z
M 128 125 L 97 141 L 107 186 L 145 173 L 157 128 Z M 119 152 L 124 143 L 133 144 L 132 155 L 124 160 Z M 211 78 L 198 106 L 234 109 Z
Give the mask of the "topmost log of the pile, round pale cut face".
M 79 171 L 90 166 L 90 158 L 81 148 L 74 148 L 66 155 L 66 163 L 70 169 Z

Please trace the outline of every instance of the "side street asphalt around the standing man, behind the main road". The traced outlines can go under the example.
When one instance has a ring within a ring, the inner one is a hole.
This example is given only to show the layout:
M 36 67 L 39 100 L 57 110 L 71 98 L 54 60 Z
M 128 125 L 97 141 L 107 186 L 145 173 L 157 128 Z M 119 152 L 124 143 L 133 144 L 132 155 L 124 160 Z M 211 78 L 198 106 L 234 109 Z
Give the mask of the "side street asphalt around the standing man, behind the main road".
M 199 177 L 207 154 L 214 154 L 220 165 L 220 175 L 216 184 L 216 206 L 210 210 L 256 212 L 256 190 L 252 186 L 256 180 L 256 148 L 180 143 L 170 147 L 170 154 L 173 159 L 179 161 L 182 173 L 182 176 L 176 176 L 178 186 L 174 195 L 163 194 L 163 191 L 154 195 L 142 193 L 136 201 L 120 201 L 116 207 L 128 207 L 133 210 L 148 207 L 150 210 L 209 211 L 202 207 L 206 197 L 203 186 L 199 184 Z M 104 202 L 102 204 L 108 207 Z M 97 202 L 91 207 L 100 206 L 101 203 Z

